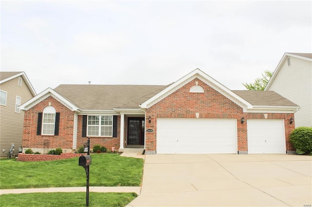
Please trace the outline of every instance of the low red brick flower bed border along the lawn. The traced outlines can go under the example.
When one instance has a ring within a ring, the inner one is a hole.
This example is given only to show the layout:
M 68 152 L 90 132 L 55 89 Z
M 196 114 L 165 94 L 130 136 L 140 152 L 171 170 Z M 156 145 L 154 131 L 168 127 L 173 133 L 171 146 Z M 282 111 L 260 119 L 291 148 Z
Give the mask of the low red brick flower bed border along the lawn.
M 71 157 L 79 157 L 80 155 L 85 154 L 74 154 L 74 153 L 62 153 L 60 155 L 31 155 L 19 153 L 18 161 L 47 161 L 47 160 L 56 160 L 56 159 L 68 159 Z

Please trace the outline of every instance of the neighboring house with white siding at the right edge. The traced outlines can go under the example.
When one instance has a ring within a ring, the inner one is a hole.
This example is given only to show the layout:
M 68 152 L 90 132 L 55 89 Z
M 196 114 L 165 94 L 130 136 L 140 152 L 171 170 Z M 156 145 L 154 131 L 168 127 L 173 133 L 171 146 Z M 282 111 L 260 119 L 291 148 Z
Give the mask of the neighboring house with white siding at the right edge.
M 312 127 L 312 53 L 285 53 L 265 90 L 273 90 L 300 106 L 295 127 Z

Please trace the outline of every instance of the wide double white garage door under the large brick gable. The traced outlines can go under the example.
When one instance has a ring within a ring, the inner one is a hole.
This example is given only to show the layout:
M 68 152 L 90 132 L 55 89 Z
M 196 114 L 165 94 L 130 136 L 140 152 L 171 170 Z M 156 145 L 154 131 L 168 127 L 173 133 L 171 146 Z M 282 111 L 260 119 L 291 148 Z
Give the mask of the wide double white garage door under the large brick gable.
M 157 119 L 157 154 L 236 154 L 235 119 Z

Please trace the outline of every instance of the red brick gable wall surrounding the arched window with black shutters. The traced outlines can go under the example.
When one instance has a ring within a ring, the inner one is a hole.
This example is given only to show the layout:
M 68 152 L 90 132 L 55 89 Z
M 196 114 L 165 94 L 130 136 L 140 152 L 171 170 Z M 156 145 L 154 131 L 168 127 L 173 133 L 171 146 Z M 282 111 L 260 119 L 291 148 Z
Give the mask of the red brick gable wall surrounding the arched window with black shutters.
M 59 135 L 37 135 L 38 113 L 46 106 L 53 106 L 60 113 Z M 74 111 L 71 111 L 55 98 L 49 96 L 29 110 L 25 111 L 22 147 L 42 149 L 72 149 L 73 148 Z

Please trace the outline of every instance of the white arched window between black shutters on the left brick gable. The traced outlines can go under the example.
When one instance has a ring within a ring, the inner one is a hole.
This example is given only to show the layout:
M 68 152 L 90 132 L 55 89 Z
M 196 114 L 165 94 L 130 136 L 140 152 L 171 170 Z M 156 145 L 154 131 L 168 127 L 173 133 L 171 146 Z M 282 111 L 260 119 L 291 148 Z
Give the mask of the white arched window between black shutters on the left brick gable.
M 47 106 L 43 109 L 42 117 L 42 135 L 54 135 L 56 110 L 53 106 Z

